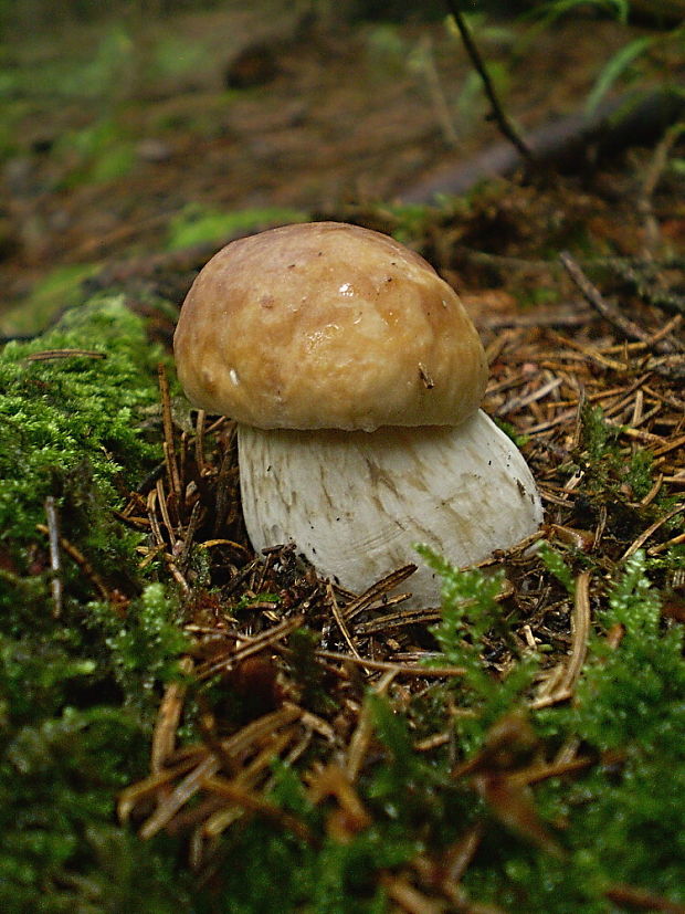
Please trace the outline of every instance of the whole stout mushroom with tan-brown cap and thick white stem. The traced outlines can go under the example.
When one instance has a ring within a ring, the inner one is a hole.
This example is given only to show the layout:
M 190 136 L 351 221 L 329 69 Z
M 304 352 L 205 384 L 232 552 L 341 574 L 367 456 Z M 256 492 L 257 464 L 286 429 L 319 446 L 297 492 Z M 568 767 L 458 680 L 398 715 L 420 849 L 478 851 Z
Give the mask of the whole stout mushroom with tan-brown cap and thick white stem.
M 233 241 L 204 266 L 173 339 L 189 399 L 238 422 L 256 550 L 293 542 L 360 592 L 423 543 L 456 566 L 534 533 L 524 458 L 478 409 L 483 346 L 423 258 L 339 222 Z M 435 572 L 412 605 L 440 600 Z

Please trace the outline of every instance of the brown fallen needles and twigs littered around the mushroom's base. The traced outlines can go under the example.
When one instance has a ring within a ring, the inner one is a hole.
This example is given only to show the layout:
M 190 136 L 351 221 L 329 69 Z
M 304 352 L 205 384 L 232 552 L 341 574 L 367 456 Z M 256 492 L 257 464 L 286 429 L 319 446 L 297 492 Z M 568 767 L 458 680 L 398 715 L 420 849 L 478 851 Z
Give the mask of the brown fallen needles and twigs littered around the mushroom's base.
M 509 635 L 488 637 L 483 662 L 498 676 L 526 652 L 544 656 L 528 696 L 531 708 L 572 700 L 602 572 L 637 548 L 658 556 L 685 539 L 677 523 L 685 507 L 682 316 L 664 318 L 637 296 L 630 307 L 608 303 L 570 255 L 563 263 L 589 305 L 582 324 L 561 309 L 558 322 L 514 315 L 483 328 L 492 371 L 485 409 L 521 437 L 546 504 L 539 534 L 482 563 L 505 574 L 498 601 L 510 622 Z M 388 569 L 356 595 L 320 579 L 292 545 L 254 555 L 241 519 L 234 424 L 202 412 L 192 413 L 191 423 L 180 420 L 164 371 L 160 395 L 164 466 L 131 494 L 120 516 L 147 534 L 141 565 L 161 563 L 178 585 L 192 649 L 182 662 L 186 679 L 171 682 L 161 698 L 150 774 L 122 794 L 119 816 L 135 821 L 144 838 L 161 830 L 187 834 L 199 869 L 222 832 L 254 816 L 316 841 L 304 820 L 268 799 L 280 760 L 298 773 L 312 803 L 326 802 L 328 834 L 350 840 L 371 822 L 356 787 L 378 753 L 366 691 L 402 707 L 432 681 L 463 674 L 423 665 L 435 655 L 428 627 L 440 609 L 405 610 L 404 597 L 388 596 L 398 585 L 411 591 L 413 566 Z M 605 453 L 591 459 L 584 424 L 596 407 L 611 440 Z M 652 454 L 646 492 L 623 472 L 644 449 Z M 588 557 L 593 570 L 576 576 L 573 600 L 544 572 L 540 540 Z M 682 587 L 665 582 L 675 601 Z M 316 633 L 310 642 L 296 639 L 303 626 Z M 613 643 L 620 638 L 609 633 Z M 200 707 L 200 737 L 186 744 L 177 734 L 190 682 L 219 683 L 226 701 Z M 241 700 L 238 711 L 231 695 Z M 421 735 L 414 749 L 425 755 L 449 745 L 450 732 L 441 731 Z M 584 757 L 576 744 L 556 758 L 540 758 L 525 716 L 499 722 L 474 758 L 455 753 L 454 777 L 485 799 L 496 820 L 561 853 L 537 817 L 530 787 L 572 777 L 597 758 Z M 419 857 L 384 873 L 396 910 L 495 911 L 470 904 L 460 886 L 484 828 L 466 831 L 440 860 Z M 663 901 L 643 899 L 631 886 L 611 891 L 616 903 L 635 907 Z

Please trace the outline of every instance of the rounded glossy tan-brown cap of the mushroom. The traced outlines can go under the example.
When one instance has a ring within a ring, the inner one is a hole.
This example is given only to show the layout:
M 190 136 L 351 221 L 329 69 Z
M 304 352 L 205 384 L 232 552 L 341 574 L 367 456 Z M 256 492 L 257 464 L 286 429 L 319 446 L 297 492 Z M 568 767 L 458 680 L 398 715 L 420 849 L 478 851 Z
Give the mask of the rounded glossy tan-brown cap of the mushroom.
M 433 267 L 341 222 L 228 244 L 188 293 L 173 347 L 196 406 L 263 429 L 456 426 L 487 379 L 478 335 Z

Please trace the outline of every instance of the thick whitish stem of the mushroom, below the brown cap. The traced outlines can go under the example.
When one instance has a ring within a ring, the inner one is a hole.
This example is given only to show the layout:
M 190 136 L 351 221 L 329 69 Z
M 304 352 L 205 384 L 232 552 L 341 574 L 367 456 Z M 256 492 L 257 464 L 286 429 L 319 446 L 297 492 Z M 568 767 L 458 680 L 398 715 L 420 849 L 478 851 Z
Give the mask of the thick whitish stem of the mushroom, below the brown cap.
M 239 427 L 245 524 L 256 550 L 295 543 L 361 592 L 408 563 L 412 606 L 440 602 L 423 543 L 471 565 L 534 533 L 542 507 L 515 444 L 481 410 L 457 427 L 375 432 Z

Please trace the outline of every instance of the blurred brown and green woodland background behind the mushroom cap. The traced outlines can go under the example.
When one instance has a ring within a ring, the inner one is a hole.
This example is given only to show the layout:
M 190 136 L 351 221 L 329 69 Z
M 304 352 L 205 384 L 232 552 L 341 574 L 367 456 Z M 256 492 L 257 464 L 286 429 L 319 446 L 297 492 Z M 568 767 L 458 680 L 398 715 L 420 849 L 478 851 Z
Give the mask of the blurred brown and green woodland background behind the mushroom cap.
M 609 98 L 679 93 L 684 7 L 461 4 L 524 135 Z M 2 0 L 0 330 L 21 330 L 20 312 L 24 329 L 44 322 L 103 263 L 440 198 L 442 176 L 449 189 L 503 143 L 447 13 L 438 0 Z

